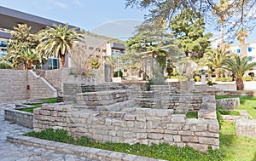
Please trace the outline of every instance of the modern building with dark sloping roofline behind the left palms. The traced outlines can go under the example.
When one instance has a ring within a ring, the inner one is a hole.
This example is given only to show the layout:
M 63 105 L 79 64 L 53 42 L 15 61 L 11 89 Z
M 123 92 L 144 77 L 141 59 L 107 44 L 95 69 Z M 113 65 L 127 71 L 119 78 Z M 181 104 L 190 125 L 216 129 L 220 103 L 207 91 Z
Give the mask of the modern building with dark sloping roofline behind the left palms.
M 64 26 L 64 23 L 45 19 L 43 17 L 38 17 L 32 14 L 26 14 L 15 9 L 8 9 L 0 6 L 0 59 L 2 56 L 7 54 L 6 46 L 7 41 L 10 38 L 10 32 L 3 31 L 12 31 L 14 26 L 17 24 L 23 23 L 27 26 L 32 27 L 32 32 L 39 32 L 44 29 L 46 26 L 53 26 L 53 24 Z M 69 26 L 69 28 L 78 28 L 76 26 Z M 83 55 L 66 55 L 65 67 L 89 67 L 88 61 L 83 59 L 88 56 L 91 58 L 98 58 L 100 62 L 109 55 L 116 55 L 120 53 L 125 53 L 125 45 L 120 43 L 121 41 L 113 39 L 111 37 L 104 37 L 96 35 L 90 32 L 84 34 L 84 44 L 80 44 L 79 48 L 84 48 Z M 89 61 L 90 61 L 89 59 Z M 47 64 L 42 66 L 43 69 L 57 69 L 59 68 L 59 59 L 55 57 L 48 58 Z

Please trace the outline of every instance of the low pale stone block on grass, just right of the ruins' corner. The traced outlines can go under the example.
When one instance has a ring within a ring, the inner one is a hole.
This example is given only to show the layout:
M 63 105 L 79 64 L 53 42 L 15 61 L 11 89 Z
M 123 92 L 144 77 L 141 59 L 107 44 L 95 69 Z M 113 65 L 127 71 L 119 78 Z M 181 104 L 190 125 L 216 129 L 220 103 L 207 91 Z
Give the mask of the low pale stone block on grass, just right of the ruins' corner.
M 239 98 L 226 98 L 216 100 L 217 106 L 222 106 L 224 110 L 235 110 L 236 106 L 240 106 Z

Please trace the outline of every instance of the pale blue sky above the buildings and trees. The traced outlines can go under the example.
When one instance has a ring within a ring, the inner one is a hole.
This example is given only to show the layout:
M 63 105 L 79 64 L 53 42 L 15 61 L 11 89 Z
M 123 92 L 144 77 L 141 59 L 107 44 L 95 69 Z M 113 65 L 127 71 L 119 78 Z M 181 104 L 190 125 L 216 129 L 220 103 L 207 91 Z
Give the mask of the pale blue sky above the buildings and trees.
M 134 27 L 140 25 L 148 13 L 125 9 L 125 0 L 0 0 L 0 5 L 120 39 L 131 37 Z M 247 43 L 256 42 L 255 31 L 249 33 Z M 219 35 L 216 31 L 207 32 Z

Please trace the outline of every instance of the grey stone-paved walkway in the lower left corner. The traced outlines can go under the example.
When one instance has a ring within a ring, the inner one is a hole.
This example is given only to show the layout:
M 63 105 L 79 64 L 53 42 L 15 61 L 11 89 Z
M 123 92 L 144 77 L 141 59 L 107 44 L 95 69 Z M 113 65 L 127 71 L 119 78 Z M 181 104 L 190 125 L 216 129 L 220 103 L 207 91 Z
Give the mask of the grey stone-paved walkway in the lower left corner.
M 20 103 L 19 101 L 16 102 Z M 6 141 L 6 136 L 22 135 L 32 130 L 4 121 L 3 109 L 13 106 L 14 104 L 0 103 L 0 161 L 90 161 L 90 159 L 79 158 L 75 155 Z

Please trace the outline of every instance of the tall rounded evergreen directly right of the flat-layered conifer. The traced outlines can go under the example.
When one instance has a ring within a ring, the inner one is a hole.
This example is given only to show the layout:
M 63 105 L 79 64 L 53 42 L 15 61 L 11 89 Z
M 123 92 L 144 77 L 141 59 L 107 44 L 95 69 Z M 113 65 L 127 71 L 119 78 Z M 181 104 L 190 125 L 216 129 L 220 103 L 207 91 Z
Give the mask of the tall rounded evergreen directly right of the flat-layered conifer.
M 192 9 L 185 9 L 173 17 L 170 24 L 186 56 L 201 58 L 211 46 L 209 38 L 212 33 L 204 33 L 204 19 L 200 13 L 194 14 Z

